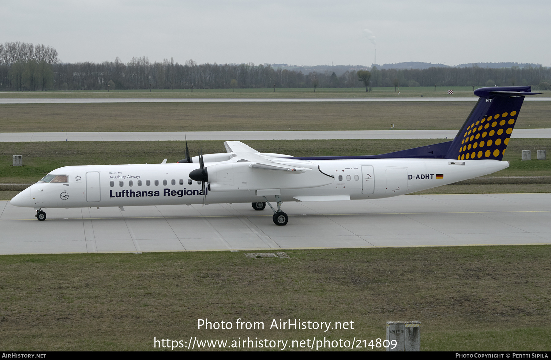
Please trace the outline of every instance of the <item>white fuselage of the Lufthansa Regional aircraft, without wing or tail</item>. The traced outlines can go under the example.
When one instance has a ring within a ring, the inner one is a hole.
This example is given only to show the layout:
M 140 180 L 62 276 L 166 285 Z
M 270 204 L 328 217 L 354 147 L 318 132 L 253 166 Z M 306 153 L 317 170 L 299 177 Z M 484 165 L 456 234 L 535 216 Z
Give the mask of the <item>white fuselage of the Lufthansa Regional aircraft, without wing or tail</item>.
M 509 166 L 497 160 L 451 159 L 314 160 L 311 163 L 323 173 L 321 177 L 326 176 L 322 186 L 310 187 L 304 181 L 308 173 L 317 171 L 312 170 L 285 174 L 287 187 L 292 188 L 270 190 L 280 190 L 281 201 L 378 199 L 483 176 Z M 274 200 L 269 191 L 246 187 L 223 191 L 207 188 L 203 194 L 202 185 L 188 177 L 197 168 L 197 163 L 66 166 L 50 173 L 67 176 L 68 182 L 37 182 L 16 195 L 11 204 L 29 208 L 83 208 L 191 205 L 203 201 L 206 204 L 252 203 L 264 201 L 263 194 L 269 201 Z M 273 173 L 276 176 L 277 171 Z

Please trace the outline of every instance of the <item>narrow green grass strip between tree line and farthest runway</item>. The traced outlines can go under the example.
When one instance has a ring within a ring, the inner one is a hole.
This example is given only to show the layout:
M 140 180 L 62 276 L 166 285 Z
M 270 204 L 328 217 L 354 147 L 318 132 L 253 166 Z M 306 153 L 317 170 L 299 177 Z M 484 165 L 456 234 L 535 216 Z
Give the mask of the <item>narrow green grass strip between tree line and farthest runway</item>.
M 475 89 L 481 86 L 475 86 Z M 117 97 L 475 97 L 472 86 L 418 86 L 391 88 L 276 88 L 272 89 L 153 89 L 149 90 L 50 90 L 50 91 L 0 91 L 0 99 L 13 98 L 117 98 Z M 448 90 L 453 90 L 449 95 Z M 550 91 L 537 97 L 549 97 Z

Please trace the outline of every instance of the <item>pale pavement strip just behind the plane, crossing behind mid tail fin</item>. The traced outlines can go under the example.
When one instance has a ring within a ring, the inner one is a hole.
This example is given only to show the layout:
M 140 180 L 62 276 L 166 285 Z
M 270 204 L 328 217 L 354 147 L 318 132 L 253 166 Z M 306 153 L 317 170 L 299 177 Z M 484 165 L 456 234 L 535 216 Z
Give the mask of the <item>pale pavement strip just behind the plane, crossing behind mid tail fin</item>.
M 301 139 L 453 139 L 458 130 L 359 131 L 197 131 L 0 133 L 0 142 L 13 141 L 183 141 L 301 140 Z M 551 129 L 515 129 L 511 138 L 551 138 Z

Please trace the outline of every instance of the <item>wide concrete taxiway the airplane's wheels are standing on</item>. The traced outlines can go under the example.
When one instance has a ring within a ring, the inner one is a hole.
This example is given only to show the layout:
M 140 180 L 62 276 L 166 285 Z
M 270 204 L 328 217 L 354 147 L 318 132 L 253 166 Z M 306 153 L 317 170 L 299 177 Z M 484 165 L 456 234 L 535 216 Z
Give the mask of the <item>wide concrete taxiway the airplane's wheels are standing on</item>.
M 284 203 L 46 209 L 0 201 L 0 254 L 551 244 L 551 193 L 402 195 Z

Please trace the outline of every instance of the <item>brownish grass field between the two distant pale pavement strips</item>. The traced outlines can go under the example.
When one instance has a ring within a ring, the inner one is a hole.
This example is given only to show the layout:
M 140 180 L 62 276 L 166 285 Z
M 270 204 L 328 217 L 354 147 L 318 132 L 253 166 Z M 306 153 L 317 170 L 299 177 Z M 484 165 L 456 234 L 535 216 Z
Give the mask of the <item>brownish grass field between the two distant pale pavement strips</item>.
M 474 102 L 2 104 L 2 132 L 459 129 Z M 525 102 L 516 128 L 551 127 Z

